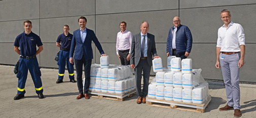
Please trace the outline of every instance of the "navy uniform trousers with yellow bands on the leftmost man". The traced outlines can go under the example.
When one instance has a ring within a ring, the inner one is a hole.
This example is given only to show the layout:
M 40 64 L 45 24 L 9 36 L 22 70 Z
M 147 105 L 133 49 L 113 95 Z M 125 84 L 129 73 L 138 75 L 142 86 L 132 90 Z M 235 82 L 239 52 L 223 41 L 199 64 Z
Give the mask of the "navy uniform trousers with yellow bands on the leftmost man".
M 19 72 L 17 73 L 18 78 L 18 94 L 24 95 L 25 91 L 25 84 L 27 80 L 27 73 L 31 75 L 31 78 L 34 83 L 35 92 L 43 93 L 43 86 L 41 80 L 41 71 L 38 65 L 38 60 L 35 58 L 20 58 L 20 65 L 19 65 Z

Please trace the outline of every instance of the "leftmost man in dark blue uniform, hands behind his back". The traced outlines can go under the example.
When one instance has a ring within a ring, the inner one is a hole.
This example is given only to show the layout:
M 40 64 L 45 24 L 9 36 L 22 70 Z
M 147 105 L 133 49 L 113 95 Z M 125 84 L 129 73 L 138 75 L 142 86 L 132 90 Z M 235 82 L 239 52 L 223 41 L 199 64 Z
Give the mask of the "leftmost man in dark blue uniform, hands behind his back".
M 23 24 L 25 31 L 18 35 L 14 42 L 14 50 L 20 55 L 19 72 L 17 74 L 17 78 L 19 78 L 18 92 L 14 97 L 14 100 L 24 97 L 24 94 L 26 93 L 25 83 L 27 80 L 28 70 L 34 82 L 35 92 L 38 94 L 38 98 L 42 99 L 44 98 L 44 95 L 41 71 L 35 55 L 39 54 L 43 50 L 43 43 L 40 37 L 31 31 L 31 21 L 26 20 Z M 39 47 L 38 50 L 36 50 L 36 45 Z

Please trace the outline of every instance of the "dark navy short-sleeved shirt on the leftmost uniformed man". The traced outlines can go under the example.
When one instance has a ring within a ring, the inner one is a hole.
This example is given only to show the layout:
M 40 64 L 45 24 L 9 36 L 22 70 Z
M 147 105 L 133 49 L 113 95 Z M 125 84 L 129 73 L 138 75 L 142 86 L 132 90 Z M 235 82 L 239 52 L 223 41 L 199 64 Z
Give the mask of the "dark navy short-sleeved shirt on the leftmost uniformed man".
M 43 43 L 38 35 L 33 32 L 25 32 L 18 35 L 14 41 L 14 46 L 20 47 L 20 55 L 33 56 L 36 53 L 36 45 L 42 46 Z

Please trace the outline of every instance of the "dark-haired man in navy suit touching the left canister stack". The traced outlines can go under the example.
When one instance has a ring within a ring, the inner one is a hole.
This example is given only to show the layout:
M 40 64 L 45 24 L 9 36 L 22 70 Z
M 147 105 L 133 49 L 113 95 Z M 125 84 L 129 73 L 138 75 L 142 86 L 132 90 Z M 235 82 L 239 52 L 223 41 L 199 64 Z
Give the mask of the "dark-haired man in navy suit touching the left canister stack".
M 71 64 L 74 64 L 74 60 L 75 60 L 75 65 L 77 70 L 77 83 L 78 83 L 78 90 L 79 90 L 79 96 L 77 97 L 77 99 L 81 99 L 82 97 L 85 97 L 86 99 L 90 99 L 90 97 L 88 96 L 88 90 L 90 86 L 90 71 L 91 71 L 91 64 L 92 64 L 92 58 L 93 58 L 92 41 L 95 43 L 101 56 L 106 56 L 106 54 L 104 54 L 104 51 L 94 32 L 86 28 L 87 19 L 85 17 L 80 17 L 78 19 L 78 23 L 80 25 L 80 29 L 74 31 L 73 33 L 70 52 L 69 52 L 69 62 Z M 74 60 L 73 60 L 73 55 L 74 55 Z M 84 71 L 85 71 L 84 91 L 83 91 L 83 81 L 82 81 L 83 64 L 84 64 Z

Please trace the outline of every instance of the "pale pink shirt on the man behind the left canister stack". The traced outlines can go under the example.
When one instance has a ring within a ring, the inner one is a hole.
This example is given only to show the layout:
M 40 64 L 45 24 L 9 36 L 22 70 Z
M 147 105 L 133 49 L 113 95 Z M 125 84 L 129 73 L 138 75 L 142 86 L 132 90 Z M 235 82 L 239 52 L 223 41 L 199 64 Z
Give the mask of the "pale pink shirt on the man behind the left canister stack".
M 127 50 L 130 49 L 132 43 L 132 33 L 130 31 L 125 30 L 123 33 L 120 31 L 117 33 L 117 44 L 116 51 L 118 54 L 119 50 Z M 129 51 L 129 53 L 131 50 Z

